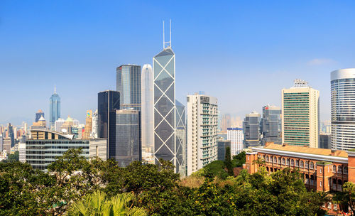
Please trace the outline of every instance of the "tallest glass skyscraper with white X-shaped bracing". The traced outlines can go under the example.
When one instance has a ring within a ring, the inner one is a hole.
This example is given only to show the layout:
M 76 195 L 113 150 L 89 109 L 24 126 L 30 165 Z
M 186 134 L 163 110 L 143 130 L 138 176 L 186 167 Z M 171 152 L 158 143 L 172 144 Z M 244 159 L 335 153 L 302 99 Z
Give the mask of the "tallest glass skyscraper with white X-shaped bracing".
M 171 34 L 170 34 L 171 36 Z M 154 75 L 154 158 L 171 161 L 175 173 L 185 171 L 184 158 L 178 151 L 184 148 L 176 139 L 176 106 L 175 106 L 175 53 L 170 42 L 163 41 L 163 50 L 153 57 Z

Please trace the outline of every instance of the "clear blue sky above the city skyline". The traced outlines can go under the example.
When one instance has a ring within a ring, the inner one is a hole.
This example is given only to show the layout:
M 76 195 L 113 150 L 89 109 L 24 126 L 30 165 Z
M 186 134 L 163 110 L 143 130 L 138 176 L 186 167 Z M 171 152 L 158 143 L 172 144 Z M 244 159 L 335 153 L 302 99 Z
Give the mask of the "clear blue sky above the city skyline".
M 355 67 L 355 1 L 0 1 L 0 123 L 49 119 L 54 85 L 62 117 L 84 123 L 116 67 L 152 63 L 162 22 L 173 22 L 176 96 L 203 90 L 222 113 L 281 104 L 307 80 L 330 117 L 330 72 Z

